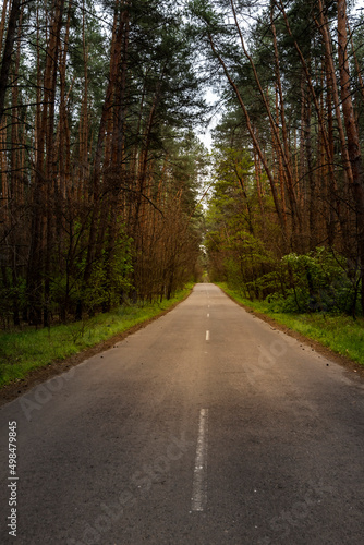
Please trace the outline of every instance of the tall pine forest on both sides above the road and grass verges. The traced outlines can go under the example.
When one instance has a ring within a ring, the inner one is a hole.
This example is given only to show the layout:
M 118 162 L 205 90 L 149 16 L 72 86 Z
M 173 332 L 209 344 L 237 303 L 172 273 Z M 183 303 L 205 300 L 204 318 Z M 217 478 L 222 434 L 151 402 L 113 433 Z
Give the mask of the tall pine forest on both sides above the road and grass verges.
M 204 278 L 364 314 L 359 1 L 3 0 L 0 16 L 1 328 Z

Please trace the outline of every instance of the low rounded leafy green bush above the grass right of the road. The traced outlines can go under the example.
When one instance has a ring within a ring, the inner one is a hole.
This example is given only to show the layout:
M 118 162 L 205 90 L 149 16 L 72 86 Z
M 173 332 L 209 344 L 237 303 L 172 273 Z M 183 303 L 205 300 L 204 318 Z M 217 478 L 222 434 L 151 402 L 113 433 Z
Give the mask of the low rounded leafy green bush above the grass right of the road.
M 257 251 L 256 264 L 259 257 L 272 270 L 244 282 L 238 263 L 230 258 L 225 264 L 227 280 L 229 287 L 240 289 L 251 300 L 262 300 L 268 291 L 265 303 L 269 312 L 353 315 L 359 312 L 359 278 L 349 275 L 342 256 L 317 247 L 304 255 L 288 254 L 280 262 L 264 259 L 264 254 Z

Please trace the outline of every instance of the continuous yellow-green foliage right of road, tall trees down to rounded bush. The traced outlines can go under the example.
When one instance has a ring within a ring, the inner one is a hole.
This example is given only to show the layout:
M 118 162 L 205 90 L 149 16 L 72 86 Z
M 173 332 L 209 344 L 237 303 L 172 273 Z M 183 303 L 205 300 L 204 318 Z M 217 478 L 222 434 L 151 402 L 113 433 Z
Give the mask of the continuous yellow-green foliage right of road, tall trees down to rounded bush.
M 263 178 L 257 193 L 248 152 L 220 145 L 214 161 L 205 240 L 213 281 L 225 280 L 252 301 L 266 300 L 271 312 L 355 316 L 355 264 L 326 247 L 284 254 L 277 222 L 270 221 L 272 203 L 264 195 Z

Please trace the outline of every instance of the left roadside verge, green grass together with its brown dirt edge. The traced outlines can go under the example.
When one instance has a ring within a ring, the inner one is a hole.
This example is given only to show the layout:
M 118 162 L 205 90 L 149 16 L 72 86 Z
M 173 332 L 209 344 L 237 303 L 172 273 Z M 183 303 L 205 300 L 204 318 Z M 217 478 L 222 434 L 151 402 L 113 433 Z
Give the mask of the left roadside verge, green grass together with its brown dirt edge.
M 0 332 L 0 407 L 34 386 L 112 348 L 184 301 L 193 284 L 161 303 L 120 307 L 50 330 Z

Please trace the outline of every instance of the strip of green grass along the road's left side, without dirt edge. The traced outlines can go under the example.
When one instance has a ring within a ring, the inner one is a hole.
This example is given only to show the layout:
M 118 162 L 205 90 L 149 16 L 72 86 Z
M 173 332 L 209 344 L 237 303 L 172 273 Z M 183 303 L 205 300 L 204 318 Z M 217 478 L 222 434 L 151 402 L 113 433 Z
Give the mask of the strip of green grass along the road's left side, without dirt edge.
M 162 314 L 189 295 L 192 288 L 193 283 L 187 284 L 170 300 L 120 306 L 83 322 L 49 329 L 0 331 L 0 387 Z

